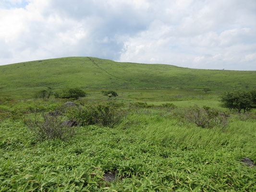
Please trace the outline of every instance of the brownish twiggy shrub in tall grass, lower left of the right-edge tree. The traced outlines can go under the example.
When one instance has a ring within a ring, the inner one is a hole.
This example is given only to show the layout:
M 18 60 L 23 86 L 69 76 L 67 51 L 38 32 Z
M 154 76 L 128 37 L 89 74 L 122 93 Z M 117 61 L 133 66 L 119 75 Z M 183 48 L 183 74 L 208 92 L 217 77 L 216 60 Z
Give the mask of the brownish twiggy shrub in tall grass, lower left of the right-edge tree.
M 195 123 L 198 127 L 202 128 L 212 128 L 214 126 L 225 127 L 227 125 L 227 116 L 221 115 L 216 109 L 206 106 L 203 108 L 194 106 L 192 108 L 185 109 L 181 117 L 184 120 Z

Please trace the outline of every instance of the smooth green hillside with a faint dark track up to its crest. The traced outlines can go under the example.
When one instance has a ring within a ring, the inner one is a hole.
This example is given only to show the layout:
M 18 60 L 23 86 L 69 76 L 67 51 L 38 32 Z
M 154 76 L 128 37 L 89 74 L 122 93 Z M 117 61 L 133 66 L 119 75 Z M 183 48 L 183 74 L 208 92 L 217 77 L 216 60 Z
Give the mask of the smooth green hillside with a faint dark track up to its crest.
M 164 64 L 123 63 L 92 57 L 37 60 L 0 66 L 0 90 L 61 88 L 255 87 L 256 71 L 199 70 Z

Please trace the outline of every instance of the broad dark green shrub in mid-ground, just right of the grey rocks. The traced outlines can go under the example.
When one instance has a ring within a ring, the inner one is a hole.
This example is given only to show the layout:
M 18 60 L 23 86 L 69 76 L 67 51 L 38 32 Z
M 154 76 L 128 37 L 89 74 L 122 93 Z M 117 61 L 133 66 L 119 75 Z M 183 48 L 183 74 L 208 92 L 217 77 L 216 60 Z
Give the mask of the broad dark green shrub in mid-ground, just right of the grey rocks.
M 67 111 L 69 119 L 76 119 L 82 125 L 98 124 L 113 127 L 124 117 L 124 110 L 115 104 L 87 104 L 79 108 L 71 108 Z

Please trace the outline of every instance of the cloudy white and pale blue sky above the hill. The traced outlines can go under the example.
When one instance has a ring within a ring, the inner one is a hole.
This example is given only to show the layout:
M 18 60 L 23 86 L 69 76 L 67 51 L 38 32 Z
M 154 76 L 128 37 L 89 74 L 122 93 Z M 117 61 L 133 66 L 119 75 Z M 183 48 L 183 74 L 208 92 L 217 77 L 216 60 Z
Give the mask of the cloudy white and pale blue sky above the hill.
M 256 71 L 256 0 L 0 0 L 0 65 L 74 56 Z

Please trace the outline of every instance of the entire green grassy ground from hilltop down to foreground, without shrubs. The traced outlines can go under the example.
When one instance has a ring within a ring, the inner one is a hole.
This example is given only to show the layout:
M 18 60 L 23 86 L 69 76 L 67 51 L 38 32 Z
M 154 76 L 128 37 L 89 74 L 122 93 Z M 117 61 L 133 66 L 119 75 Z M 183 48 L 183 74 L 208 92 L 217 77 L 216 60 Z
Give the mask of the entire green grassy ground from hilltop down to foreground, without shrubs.
M 240 160 L 256 162 L 256 111 L 229 111 L 219 95 L 254 88 L 255 74 L 97 58 L 0 66 L 0 191 L 254 192 L 256 169 Z M 34 98 L 47 87 L 81 87 L 87 95 Z M 118 96 L 101 92 L 110 89 Z M 75 106 L 65 105 L 70 101 Z M 187 121 L 195 105 L 217 111 L 217 118 L 228 114 L 227 124 Z M 39 141 L 28 121 L 54 111 L 80 120 L 76 132 L 65 141 Z M 99 111 L 105 116 L 89 123 Z

